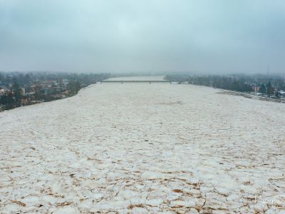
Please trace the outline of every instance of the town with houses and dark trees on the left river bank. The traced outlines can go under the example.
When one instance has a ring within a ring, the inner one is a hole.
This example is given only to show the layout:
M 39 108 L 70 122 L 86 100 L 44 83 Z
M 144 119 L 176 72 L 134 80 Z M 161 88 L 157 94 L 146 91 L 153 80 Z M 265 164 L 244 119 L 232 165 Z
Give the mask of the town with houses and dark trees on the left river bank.
M 1 72 L 0 111 L 67 98 L 109 76 L 108 73 Z

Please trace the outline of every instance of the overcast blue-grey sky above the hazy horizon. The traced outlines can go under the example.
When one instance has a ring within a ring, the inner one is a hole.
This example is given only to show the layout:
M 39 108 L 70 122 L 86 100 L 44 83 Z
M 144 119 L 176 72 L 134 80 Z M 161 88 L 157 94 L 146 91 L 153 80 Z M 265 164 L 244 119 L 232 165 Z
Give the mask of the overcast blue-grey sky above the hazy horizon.
M 0 0 L 0 71 L 285 73 L 284 0 Z

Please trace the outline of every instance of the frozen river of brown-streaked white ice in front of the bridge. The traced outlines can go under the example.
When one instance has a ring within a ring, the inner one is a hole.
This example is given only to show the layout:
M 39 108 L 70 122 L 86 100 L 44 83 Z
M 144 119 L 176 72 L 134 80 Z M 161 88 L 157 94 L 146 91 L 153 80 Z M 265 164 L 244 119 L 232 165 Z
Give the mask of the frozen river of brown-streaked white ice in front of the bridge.
M 1 112 L 0 213 L 284 213 L 285 105 L 220 91 L 103 83 Z

